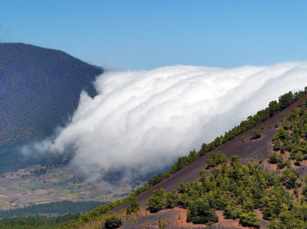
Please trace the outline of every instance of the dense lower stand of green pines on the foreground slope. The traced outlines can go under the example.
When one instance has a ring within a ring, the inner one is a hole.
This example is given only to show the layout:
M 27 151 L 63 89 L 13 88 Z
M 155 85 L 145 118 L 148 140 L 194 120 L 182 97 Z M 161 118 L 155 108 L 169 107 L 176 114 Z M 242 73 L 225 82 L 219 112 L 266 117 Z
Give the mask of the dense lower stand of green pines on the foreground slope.
M 307 186 L 299 198 L 302 182 L 296 169 L 288 164 L 276 175 L 274 171 L 263 171 L 259 165 L 262 162 L 253 158 L 246 166 L 234 155 L 227 164 L 227 158 L 220 153 L 212 157 L 216 163 L 209 176 L 200 170 L 200 179 L 181 183 L 177 190 L 153 191 L 146 203 L 149 210 L 156 213 L 163 207 L 181 206 L 188 209 L 186 222 L 208 227 L 219 221 L 216 211 L 220 210 L 225 219 L 239 219 L 243 227 L 259 228 L 261 223 L 255 213 L 259 209 L 262 219 L 270 221 L 268 228 L 307 227 Z

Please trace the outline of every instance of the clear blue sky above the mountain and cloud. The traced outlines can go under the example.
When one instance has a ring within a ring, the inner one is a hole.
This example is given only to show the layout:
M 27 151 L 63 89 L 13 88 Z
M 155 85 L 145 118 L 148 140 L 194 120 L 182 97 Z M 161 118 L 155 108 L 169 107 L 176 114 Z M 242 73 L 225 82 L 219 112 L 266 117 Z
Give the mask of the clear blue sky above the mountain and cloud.
M 307 60 L 307 1 L 6 1 L 0 39 L 104 68 Z

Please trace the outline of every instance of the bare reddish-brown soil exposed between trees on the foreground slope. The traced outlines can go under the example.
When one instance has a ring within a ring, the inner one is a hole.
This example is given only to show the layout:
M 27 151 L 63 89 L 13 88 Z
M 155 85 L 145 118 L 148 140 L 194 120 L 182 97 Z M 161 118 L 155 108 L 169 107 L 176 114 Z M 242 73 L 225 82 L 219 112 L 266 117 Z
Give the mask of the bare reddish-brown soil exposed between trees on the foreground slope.
M 304 100 L 307 96 L 304 96 Z M 226 155 L 226 157 L 230 160 L 232 155 L 238 155 L 240 160 L 243 164 L 247 164 L 250 157 L 255 157 L 258 160 L 259 153 L 263 155 L 262 169 L 265 170 L 272 170 L 276 169 L 276 165 L 268 164 L 266 161 L 268 160 L 268 153 L 271 150 L 271 143 L 273 135 L 278 131 L 279 128 L 269 129 L 267 125 L 274 126 L 276 121 L 280 122 L 282 120 L 281 113 L 284 112 L 287 116 L 287 113 L 291 111 L 292 108 L 298 108 L 299 101 L 294 102 L 290 107 L 287 107 L 285 110 L 279 112 L 278 114 L 274 115 L 272 118 L 266 120 L 265 122 L 255 126 L 251 130 L 246 131 L 245 133 L 236 137 L 236 140 L 233 139 L 229 142 L 229 144 L 225 143 L 220 146 L 218 149 L 213 150 L 212 152 L 221 151 Z M 285 116 L 285 118 L 286 118 Z M 252 130 L 259 129 L 260 126 L 264 124 L 265 129 L 262 132 L 262 137 L 257 140 L 252 140 Z M 240 142 L 241 136 L 244 136 L 246 140 L 244 142 Z M 211 152 L 210 152 L 211 153 Z M 150 188 L 146 192 L 140 194 L 137 198 L 141 203 L 141 214 L 140 217 L 132 224 L 132 220 L 125 220 L 123 219 L 123 225 L 121 228 L 157 228 L 158 227 L 158 218 L 161 219 L 170 219 L 171 223 L 166 223 L 166 228 L 205 228 L 205 225 L 194 225 L 192 223 L 186 223 L 186 210 L 182 208 L 174 208 L 172 210 L 162 210 L 155 214 L 150 214 L 147 211 L 147 215 L 145 215 L 145 209 L 147 206 L 145 203 L 148 201 L 148 197 L 151 196 L 151 192 L 156 189 L 163 188 L 165 192 L 171 192 L 173 189 L 177 190 L 177 186 L 180 182 L 191 182 L 199 177 L 200 169 L 204 169 L 206 167 L 206 159 L 208 158 L 207 153 L 203 157 L 199 158 L 198 160 L 192 162 L 190 165 L 186 166 L 185 168 L 181 169 L 177 173 L 173 174 L 166 180 L 163 180 L 161 183 L 155 185 L 153 188 Z M 258 155 L 256 157 L 256 155 Z M 303 167 L 303 166 L 302 166 Z M 301 169 L 302 167 L 298 168 L 298 172 L 304 174 L 305 170 Z M 130 204 L 129 202 L 117 207 L 114 209 L 114 213 L 120 214 L 121 208 L 126 208 L 127 205 Z M 181 214 L 181 219 L 178 220 L 179 212 Z M 227 220 L 223 219 L 222 212 L 217 212 L 219 215 L 219 223 L 216 223 L 213 228 L 242 228 L 238 226 L 238 220 Z M 259 215 L 260 213 L 257 212 Z M 261 218 L 259 218 L 261 219 Z M 147 221 L 155 221 L 155 225 L 147 224 Z M 263 228 L 266 228 L 268 221 L 261 219 L 261 224 Z

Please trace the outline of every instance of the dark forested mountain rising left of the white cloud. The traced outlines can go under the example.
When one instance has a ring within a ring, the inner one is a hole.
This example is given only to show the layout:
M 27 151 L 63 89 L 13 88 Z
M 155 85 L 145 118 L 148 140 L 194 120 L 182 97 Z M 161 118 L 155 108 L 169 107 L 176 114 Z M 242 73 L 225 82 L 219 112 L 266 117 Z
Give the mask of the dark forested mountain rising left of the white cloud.
M 38 140 L 67 121 L 81 90 L 91 96 L 101 68 L 65 52 L 0 44 L 0 147 Z

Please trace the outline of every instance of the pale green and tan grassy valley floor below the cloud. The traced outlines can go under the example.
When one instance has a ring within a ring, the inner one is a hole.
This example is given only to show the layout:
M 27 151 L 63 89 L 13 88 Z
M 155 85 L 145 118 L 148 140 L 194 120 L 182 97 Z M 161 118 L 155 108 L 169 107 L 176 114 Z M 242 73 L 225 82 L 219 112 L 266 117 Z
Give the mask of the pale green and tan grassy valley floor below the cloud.
M 45 169 L 40 177 L 34 170 Z M 0 178 L 0 208 L 2 210 L 52 201 L 97 200 L 114 201 L 128 196 L 131 190 L 141 187 L 136 184 L 93 184 L 77 179 L 71 172 L 59 167 L 33 165 L 17 172 L 2 174 Z

